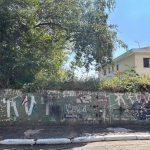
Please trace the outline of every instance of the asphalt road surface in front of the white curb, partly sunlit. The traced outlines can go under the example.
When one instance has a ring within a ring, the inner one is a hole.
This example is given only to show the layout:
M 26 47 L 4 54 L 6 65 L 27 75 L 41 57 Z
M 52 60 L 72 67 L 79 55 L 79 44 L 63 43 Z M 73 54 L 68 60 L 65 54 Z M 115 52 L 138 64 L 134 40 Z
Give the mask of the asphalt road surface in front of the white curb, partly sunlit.
M 150 150 L 150 140 L 110 141 L 64 145 L 0 145 L 0 150 Z

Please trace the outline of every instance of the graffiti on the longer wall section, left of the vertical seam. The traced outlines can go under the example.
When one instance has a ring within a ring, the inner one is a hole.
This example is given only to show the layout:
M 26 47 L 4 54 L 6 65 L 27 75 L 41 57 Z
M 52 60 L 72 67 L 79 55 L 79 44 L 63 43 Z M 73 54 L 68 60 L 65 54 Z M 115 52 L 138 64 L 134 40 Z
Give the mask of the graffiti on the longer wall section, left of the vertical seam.
M 89 91 L 48 90 L 38 91 L 37 95 L 34 95 L 7 90 L 1 97 L 1 109 L 6 108 L 6 116 L 1 117 L 18 123 L 34 120 L 41 123 L 45 121 L 100 124 L 103 118 L 106 118 L 104 112 L 108 105 L 106 94 Z

